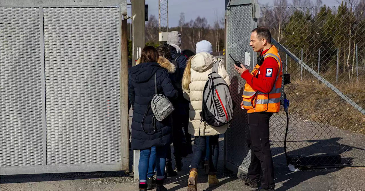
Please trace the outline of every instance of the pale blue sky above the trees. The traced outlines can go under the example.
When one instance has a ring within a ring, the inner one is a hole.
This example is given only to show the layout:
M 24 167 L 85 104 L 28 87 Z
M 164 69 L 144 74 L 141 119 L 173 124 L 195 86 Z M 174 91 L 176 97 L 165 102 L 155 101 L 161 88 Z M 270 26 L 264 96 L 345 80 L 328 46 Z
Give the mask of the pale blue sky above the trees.
M 338 5 L 336 0 L 322 1 L 326 2 L 327 6 Z M 153 14 L 158 18 L 158 0 L 145 0 L 145 2 L 148 4 L 149 14 Z M 270 5 L 273 0 L 258 0 L 258 2 L 262 4 L 269 3 Z M 205 17 L 209 24 L 212 24 L 217 16 L 219 18 L 224 17 L 224 0 L 169 0 L 169 27 L 178 26 L 181 12 L 185 13 L 185 22 L 201 16 Z M 128 15 L 131 15 L 130 8 L 128 8 Z

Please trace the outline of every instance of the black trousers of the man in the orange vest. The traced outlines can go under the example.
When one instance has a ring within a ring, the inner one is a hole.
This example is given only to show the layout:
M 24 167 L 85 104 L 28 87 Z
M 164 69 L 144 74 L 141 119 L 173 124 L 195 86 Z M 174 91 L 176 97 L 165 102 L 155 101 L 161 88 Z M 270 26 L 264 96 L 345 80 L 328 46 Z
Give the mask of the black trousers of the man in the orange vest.
M 274 165 L 269 141 L 269 121 L 272 115 L 268 112 L 247 114 L 247 145 L 251 149 L 251 164 L 247 176 L 258 181 L 262 170 L 261 187 L 264 189 L 274 188 Z

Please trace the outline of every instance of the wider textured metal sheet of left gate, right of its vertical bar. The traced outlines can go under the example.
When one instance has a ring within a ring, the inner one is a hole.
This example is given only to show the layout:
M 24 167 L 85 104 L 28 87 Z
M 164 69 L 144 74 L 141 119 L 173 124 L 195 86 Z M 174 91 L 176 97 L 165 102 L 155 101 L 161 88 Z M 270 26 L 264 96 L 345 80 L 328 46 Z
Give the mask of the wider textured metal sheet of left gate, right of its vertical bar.
M 119 9 L 43 12 L 47 164 L 120 162 Z

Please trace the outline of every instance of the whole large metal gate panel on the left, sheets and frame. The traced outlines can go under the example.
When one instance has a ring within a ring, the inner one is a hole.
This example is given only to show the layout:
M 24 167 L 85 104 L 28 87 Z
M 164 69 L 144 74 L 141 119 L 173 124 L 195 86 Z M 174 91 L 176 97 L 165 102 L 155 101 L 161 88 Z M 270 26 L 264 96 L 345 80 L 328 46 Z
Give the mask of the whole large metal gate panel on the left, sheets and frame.
M 128 169 L 126 9 L 126 0 L 0 0 L 0 175 Z

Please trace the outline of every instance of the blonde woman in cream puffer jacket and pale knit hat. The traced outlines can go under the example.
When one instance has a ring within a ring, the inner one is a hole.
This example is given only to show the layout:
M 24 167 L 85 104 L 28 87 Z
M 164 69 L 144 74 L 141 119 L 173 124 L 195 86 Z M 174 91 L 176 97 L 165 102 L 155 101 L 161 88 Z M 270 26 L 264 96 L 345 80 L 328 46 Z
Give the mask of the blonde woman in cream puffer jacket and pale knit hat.
M 200 112 L 203 105 L 203 90 L 212 73 L 212 67 L 218 58 L 212 56 L 212 44 L 202 40 L 196 44 L 196 55 L 191 56 L 187 62 L 182 85 L 184 97 L 190 101 L 189 104 L 189 133 L 195 136 L 195 149 L 193 151 L 190 175 L 188 179 L 188 191 L 196 191 L 196 182 L 201 156 L 205 155 L 205 139 L 209 136 L 209 187 L 218 185 L 216 169 L 218 164 L 218 139 L 219 135 L 226 132 L 228 124 L 221 127 L 214 127 L 201 122 Z M 219 60 L 219 59 L 218 59 Z M 219 61 L 218 74 L 230 85 L 229 77 L 222 62 Z M 200 131 L 200 134 L 199 134 Z

